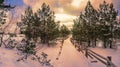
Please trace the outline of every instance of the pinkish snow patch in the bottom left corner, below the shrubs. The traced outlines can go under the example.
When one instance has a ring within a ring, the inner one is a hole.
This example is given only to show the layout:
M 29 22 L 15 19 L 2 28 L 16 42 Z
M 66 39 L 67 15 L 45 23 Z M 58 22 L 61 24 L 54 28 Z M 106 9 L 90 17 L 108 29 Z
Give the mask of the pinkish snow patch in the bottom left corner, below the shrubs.
M 18 58 L 20 58 L 20 56 L 17 54 L 16 50 L 0 48 L 0 67 L 40 67 L 38 62 L 32 61 L 31 63 L 31 60 L 29 62 L 17 62 L 16 60 Z

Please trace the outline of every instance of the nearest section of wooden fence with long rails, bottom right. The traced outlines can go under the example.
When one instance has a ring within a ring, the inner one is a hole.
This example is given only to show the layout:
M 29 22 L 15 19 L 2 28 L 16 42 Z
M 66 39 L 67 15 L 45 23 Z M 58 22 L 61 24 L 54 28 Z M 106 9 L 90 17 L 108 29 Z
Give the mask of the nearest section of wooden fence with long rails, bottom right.
M 94 51 L 90 50 L 90 49 L 86 49 L 85 50 L 85 56 L 88 58 L 96 58 L 97 60 L 99 60 L 100 62 L 102 62 L 103 64 L 106 65 L 106 67 L 117 67 L 114 63 L 112 63 L 112 57 L 111 56 L 107 56 L 107 58 L 95 53 Z

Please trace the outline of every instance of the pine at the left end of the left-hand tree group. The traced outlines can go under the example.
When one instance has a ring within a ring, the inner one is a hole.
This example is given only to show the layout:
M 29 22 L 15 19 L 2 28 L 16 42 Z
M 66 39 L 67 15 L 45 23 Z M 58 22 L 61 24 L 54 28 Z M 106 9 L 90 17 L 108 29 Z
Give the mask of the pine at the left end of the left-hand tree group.
M 33 11 L 31 7 L 26 8 L 25 10 L 25 15 L 22 15 L 21 17 L 21 33 L 25 34 L 26 38 L 28 40 L 32 40 L 33 37 L 35 36 L 34 34 L 34 23 L 35 21 L 33 20 Z

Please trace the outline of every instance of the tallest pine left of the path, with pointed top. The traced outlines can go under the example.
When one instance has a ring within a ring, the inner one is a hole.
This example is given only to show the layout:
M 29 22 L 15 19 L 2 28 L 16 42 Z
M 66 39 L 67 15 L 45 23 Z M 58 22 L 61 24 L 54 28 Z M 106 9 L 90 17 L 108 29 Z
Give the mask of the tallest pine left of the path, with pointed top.
M 59 34 L 59 23 L 55 22 L 54 12 L 50 10 L 49 5 L 42 4 L 41 9 L 36 13 L 38 15 L 40 25 L 40 38 L 42 43 L 48 43 L 55 40 Z

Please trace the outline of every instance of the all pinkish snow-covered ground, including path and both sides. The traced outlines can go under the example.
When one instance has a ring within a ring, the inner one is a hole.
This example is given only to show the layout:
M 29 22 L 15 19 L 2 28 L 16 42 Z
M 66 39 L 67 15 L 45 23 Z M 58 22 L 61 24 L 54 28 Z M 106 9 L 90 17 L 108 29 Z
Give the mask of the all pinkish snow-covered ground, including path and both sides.
M 112 56 L 113 63 L 115 63 L 117 67 L 120 66 L 120 50 L 115 51 L 102 48 L 93 48 L 92 50 L 105 57 Z M 78 52 L 76 48 L 74 48 L 69 38 L 65 40 L 62 53 L 59 56 L 59 59 L 56 60 L 59 51 L 60 44 L 49 48 L 43 46 L 37 51 L 37 54 L 40 55 L 41 52 L 47 53 L 48 59 L 51 59 L 50 63 L 54 67 L 106 67 L 100 62 L 91 63 L 91 59 L 87 59 L 83 53 Z M 17 62 L 16 60 L 19 57 L 21 56 L 18 55 L 18 51 L 16 49 L 11 50 L 0 47 L 0 67 L 46 67 L 31 59 Z

